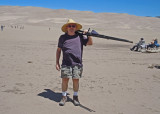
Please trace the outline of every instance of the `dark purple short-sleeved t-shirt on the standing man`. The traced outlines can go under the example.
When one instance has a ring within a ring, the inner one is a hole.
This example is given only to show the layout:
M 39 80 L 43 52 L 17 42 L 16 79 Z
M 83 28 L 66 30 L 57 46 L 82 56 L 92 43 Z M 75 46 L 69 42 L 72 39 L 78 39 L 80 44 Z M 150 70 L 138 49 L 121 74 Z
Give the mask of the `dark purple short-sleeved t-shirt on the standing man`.
M 58 47 L 62 49 L 62 65 L 82 66 L 83 45 L 86 45 L 88 39 L 84 36 L 63 34 L 59 38 Z

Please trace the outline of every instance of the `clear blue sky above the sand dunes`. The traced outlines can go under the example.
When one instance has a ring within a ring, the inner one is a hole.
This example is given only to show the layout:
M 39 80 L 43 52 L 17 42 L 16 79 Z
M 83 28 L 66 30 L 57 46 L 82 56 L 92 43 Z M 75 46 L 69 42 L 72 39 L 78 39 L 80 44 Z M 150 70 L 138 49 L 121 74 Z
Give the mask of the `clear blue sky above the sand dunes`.
M 160 16 L 160 0 L 0 0 L 0 5 Z

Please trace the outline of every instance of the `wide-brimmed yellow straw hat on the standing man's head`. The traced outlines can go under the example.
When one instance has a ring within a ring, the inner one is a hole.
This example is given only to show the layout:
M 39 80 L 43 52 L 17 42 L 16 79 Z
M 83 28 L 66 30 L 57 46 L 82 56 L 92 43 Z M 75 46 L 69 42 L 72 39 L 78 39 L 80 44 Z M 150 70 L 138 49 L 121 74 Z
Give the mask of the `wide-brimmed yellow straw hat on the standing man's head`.
M 62 26 L 62 28 L 61 28 L 63 32 L 67 32 L 66 27 L 67 27 L 69 24 L 76 24 L 77 30 L 80 30 L 80 29 L 82 28 L 82 25 L 81 25 L 81 24 L 76 23 L 73 19 L 69 19 L 69 20 L 67 21 L 67 23 L 64 24 L 64 25 Z

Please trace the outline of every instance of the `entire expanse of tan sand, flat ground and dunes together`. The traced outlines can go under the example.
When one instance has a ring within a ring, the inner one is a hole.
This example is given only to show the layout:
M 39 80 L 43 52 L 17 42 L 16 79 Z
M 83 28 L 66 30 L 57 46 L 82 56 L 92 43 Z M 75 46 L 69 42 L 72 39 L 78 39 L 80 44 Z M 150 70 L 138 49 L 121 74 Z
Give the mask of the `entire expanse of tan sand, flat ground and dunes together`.
M 94 45 L 84 48 L 79 107 L 71 102 L 71 81 L 69 101 L 58 105 L 61 79 L 55 69 L 60 28 L 68 18 L 134 43 L 141 37 L 160 41 L 160 19 L 18 6 L 0 6 L 0 14 L 1 114 L 160 113 L 160 70 L 153 66 L 160 64 L 160 53 L 131 52 L 133 44 L 93 38 Z

